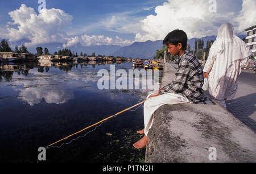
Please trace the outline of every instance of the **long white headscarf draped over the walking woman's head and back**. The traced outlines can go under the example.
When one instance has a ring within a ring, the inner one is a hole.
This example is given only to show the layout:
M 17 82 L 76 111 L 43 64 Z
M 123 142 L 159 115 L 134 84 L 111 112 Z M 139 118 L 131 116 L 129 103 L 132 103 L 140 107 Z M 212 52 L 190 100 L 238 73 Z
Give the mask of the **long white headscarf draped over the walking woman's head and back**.
M 216 55 L 213 68 L 210 72 L 214 73 L 212 86 L 217 88 L 221 77 L 224 77 L 227 69 L 233 61 L 239 59 L 249 59 L 252 52 L 249 46 L 234 33 L 234 28 L 230 23 L 224 23 L 218 29 L 216 41 L 209 51 L 209 56 Z

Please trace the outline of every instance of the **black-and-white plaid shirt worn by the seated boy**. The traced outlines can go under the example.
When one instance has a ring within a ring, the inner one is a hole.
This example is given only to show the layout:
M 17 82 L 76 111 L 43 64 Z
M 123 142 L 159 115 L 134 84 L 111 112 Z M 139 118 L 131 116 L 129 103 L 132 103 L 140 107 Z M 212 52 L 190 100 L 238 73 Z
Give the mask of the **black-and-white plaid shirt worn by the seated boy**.
M 181 93 L 188 100 L 197 104 L 214 105 L 208 97 L 203 96 L 201 87 L 204 85 L 203 68 L 196 57 L 185 50 L 178 61 L 179 67 L 171 84 L 164 86 L 164 93 Z

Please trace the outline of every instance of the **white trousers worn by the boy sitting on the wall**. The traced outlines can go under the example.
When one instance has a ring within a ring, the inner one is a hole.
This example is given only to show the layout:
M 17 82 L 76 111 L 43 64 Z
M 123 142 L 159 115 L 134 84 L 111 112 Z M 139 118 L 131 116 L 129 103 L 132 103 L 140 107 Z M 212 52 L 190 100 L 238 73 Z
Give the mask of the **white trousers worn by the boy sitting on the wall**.
M 154 93 L 152 93 L 154 94 Z M 152 94 L 147 96 L 150 97 Z M 152 114 L 163 105 L 175 105 L 178 103 L 193 103 L 189 101 L 186 97 L 180 94 L 166 93 L 156 97 L 150 97 L 146 102 L 144 102 L 144 134 L 147 136 L 148 130 L 151 128 L 153 123 Z

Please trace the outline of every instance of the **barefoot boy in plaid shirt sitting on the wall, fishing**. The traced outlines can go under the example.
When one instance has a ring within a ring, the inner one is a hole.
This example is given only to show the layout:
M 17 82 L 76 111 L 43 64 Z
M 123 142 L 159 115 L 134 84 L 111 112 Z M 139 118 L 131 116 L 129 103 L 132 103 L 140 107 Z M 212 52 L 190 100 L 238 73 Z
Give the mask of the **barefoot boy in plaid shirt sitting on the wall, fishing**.
M 182 30 L 170 32 L 163 40 L 163 44 L 168 47 L 168 53 L 179 56 L 179 66 L 170 84 L 147 96 L 147 101 L 144 102 L 144 129 L 137 131 L 145 135 L 133 144 L 135 148 L 142 148 L 148 143 L 147 134 L 152 126 L 152 114 L 160 106 L 178 103 L 214 105 L 212 100 L 203 96 L 203 68 L 196 57 L 189 53 L 187 42 L 187 34 Z

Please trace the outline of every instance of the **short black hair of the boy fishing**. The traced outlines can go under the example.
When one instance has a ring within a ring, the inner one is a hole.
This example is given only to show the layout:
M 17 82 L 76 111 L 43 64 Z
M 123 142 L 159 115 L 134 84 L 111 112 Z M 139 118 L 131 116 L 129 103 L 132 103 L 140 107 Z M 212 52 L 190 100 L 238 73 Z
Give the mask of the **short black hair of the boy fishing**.
M 188 36 L 183 30 L 174 30 L 169 32 L 169 34 L 164 38 L 163 44 L 167 45 L 168 43 L 172 45 L 182 44 L 183 50 L 187 49 Z

